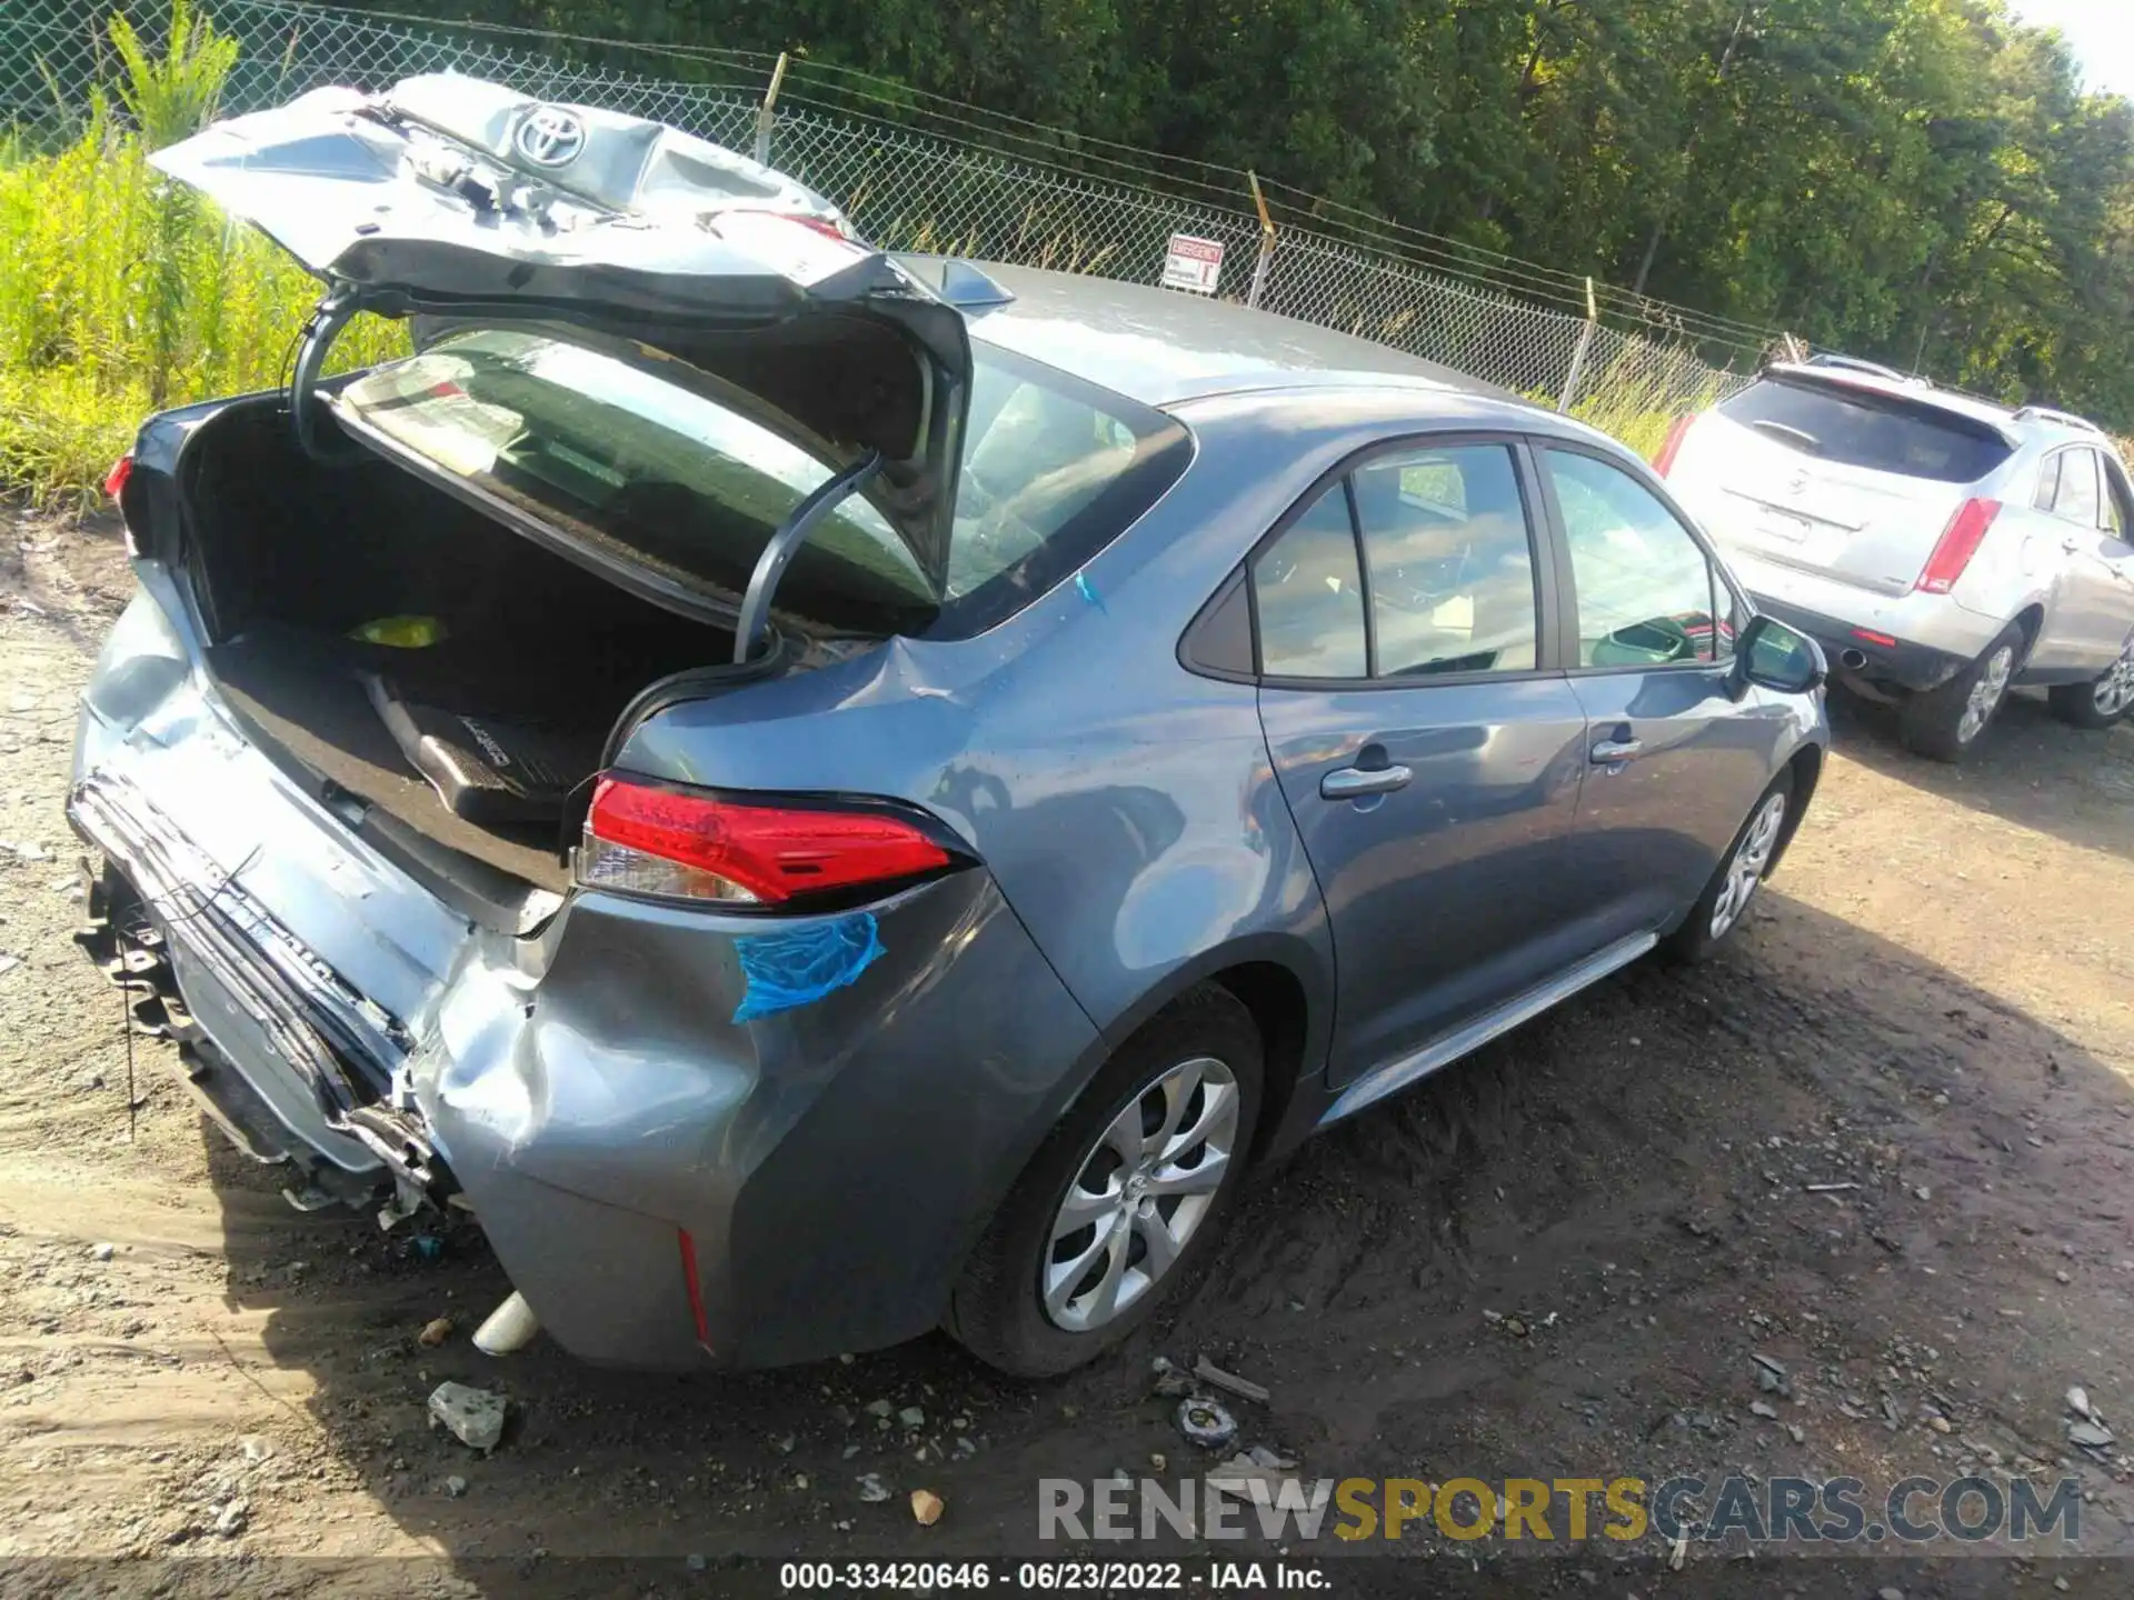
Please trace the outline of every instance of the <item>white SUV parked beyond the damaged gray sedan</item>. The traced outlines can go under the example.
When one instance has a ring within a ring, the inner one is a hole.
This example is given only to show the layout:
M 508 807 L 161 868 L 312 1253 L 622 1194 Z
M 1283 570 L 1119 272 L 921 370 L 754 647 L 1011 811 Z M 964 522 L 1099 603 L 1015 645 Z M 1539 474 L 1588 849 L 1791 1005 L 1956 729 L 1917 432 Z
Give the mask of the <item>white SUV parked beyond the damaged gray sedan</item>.
M 2079 416 L 1775 365 L 1654 467 L 1921 755 L 1961 759 L 2012 685 L 2079 727 L 2134 706 L 2134 486 Z

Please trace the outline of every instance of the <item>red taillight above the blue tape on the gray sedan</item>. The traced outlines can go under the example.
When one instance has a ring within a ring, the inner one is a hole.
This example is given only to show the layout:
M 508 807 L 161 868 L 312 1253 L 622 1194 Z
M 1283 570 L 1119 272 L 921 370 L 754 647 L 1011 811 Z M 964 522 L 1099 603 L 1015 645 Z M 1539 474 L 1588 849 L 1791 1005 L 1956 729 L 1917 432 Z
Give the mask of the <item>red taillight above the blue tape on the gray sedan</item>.
M 578 881 L 683 900 L 785 905 L 888 887 L 952 862 L 924 828 L 890 809 L 734 800 L 610 774 L 593 785 Z

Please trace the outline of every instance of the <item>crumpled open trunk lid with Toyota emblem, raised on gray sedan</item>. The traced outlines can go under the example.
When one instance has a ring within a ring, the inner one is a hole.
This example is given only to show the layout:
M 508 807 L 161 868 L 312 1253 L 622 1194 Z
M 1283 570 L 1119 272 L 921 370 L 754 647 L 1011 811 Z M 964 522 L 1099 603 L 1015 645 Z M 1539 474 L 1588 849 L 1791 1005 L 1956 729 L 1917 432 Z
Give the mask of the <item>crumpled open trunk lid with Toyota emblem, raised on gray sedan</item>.
M 655 122 L 457 75 L 316 90 L 154 156 L 256 224 L 346 316 L 566 322 L 760 401 L 866 497 L 939 593 L 971 393 L 960 311 L 819 196 Z

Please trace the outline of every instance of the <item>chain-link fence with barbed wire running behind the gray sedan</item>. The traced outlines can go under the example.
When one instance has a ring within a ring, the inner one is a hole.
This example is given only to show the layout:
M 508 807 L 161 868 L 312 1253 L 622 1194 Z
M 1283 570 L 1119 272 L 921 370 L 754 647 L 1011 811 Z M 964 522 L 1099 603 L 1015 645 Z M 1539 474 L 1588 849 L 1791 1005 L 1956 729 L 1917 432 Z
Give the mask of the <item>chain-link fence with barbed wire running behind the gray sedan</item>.
M 115 11 L 149 41 L 166 32 L 162 0 L 9 6 L 0 122 L 17 139 L 79 126 L 115 70 L 107 36 Z M 1590 279 L 1370 218 L 1351 222 L 1312 196 L 1285 196 L 1283 222 L 1263 224 L 1270 213 L 1246 173 L 1189 171 L 1146 151 L 1116 156 L 1122 147 L 971 107 L 941 111 L 930 96 L 873 79 L 854 87 L 858 75 L 839 79 L 834 68 L 800 64 L 770 107 L 766 94 L 783 73 L 730 51 L 655 51 L 297 0 L 211 0 L 211 17 L 241 45 L 226 113 L 327 83 L 380 90 L 414 73 L 455 70 L 758 149 L 892 250 L 1152 284 L 1172 235 L 1212 239 L 1223 245 L 1223 299 L 1445 363 L 1645 450 L 1667 418 L 1733 393 L 1775 346 L 1763 329 L 1622 290 L 1596 297 Z

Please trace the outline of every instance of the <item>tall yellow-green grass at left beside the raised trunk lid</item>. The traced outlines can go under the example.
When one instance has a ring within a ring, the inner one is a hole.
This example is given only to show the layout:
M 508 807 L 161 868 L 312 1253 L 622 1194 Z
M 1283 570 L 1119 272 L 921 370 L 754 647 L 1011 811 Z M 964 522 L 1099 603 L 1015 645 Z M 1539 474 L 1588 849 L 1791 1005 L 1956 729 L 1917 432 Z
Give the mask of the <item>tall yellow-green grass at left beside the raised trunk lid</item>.
M 0 486 L 94 501 L 149 412 L 273 388 L 320 286 L 252 228 L 147 164 L 213 117 L 237 49 L 184 0 L 152 53 L 124 19 L 120 107 L 94 96 L 58 154 L 0 145 Z M 335 365 L 405 348 L 352 324 Z

